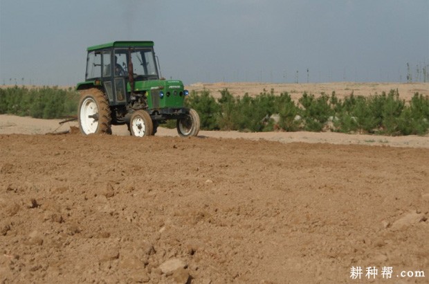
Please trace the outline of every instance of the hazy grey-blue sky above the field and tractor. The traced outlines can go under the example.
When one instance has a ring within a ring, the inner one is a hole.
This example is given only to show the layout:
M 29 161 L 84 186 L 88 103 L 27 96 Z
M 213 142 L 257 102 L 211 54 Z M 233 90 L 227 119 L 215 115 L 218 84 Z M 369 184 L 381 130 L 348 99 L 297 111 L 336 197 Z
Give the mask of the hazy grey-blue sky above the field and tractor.
M 165 78 L 403 82 L 429 0 L 0 0 L 0 84 L 75 85 L 86 47 L 153 40 Z M 12 80 L 10 80 L 12 79 Z

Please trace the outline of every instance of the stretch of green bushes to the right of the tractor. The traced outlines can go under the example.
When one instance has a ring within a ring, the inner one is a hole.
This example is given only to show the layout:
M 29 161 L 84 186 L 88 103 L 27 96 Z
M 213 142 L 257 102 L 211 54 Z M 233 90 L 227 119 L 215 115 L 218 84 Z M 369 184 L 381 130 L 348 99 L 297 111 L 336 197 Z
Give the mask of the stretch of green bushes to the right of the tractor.
M 186 103 L 197 110 L 203 130 L 334 131 L 387 135 L 424 135 L 429 131 L 429 97 L 414 94 L 409 103 L 397 90 L 369 97 L 338 98 L 304 92 L 298 102 L 273 89 L 256 97 L 234 97 L 223 89 L 215 99 L 208 90 L 192 92 Z

